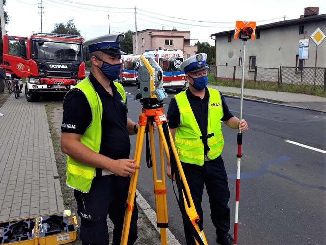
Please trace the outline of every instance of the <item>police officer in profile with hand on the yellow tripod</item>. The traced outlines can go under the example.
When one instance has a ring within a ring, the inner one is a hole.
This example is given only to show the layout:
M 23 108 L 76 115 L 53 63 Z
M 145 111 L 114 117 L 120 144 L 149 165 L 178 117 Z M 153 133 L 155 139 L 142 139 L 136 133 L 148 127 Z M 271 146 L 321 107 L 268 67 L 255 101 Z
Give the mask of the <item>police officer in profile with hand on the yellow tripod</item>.
M 114 224 L 113 245 L 120 244 L 130 176 L 139 168 L 129 159 L 129 135 L 137 125 L 127 118 L 126 94 L 114 82 L 120 73 L 122 34 L 84 42 L 91 72 L 63 102 L 61 149 L 67 154 L 66 184 L 75 189 L 82 245 L 108 245 L 107 215 Z M 128 245 L 137 239 L 135 202 Z

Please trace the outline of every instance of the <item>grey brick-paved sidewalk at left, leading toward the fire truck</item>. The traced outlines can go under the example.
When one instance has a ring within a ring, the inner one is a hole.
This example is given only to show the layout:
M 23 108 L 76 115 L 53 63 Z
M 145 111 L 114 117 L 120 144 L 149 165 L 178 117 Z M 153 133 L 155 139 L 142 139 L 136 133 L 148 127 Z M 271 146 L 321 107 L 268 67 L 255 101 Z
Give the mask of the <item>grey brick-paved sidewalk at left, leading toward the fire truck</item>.
M 44 103 L 29 103 L 22 92 L 0 112 L 0 221 L 62 212 Z

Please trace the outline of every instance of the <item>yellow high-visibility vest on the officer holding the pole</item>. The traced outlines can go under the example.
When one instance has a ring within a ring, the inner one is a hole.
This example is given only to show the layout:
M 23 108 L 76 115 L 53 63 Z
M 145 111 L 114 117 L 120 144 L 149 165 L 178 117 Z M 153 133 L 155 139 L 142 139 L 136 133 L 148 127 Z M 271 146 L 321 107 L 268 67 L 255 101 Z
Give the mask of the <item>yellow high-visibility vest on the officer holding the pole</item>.
M 207 134 L 214 135 L 207 139 L 210 150 L 207 157 L 210 160 L 217 158 L 223 151 L 224 138 L 221 122 L 223 108 L 221 96 L 216 89 L 208 88 L 210 94 L 208 102 Z M 180 112 L 180 125 L 175 132 L 175 146 L 180 161 L 202 166 L 204 164 L 204 143 L 195 115 L 187 99 L 186 91 L 174 96 Z

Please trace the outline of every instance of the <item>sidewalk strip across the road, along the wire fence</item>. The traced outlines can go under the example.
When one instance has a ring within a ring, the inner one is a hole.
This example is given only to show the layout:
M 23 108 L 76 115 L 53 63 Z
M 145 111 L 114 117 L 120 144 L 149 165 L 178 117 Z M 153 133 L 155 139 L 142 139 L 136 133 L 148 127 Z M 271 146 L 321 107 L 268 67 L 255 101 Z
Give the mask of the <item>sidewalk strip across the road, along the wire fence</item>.
M 220 92 L 241 93 L 240 88 L 209 85 L 211 88 L 218 89 Z M 286 106 L 293 106 L 326 113 L 326 98 L 289 92 L 276 92 L 266 90 L 244 89 L 244 95 L 256 96 Z M 260 99 L 258 99 L 260 100 Z

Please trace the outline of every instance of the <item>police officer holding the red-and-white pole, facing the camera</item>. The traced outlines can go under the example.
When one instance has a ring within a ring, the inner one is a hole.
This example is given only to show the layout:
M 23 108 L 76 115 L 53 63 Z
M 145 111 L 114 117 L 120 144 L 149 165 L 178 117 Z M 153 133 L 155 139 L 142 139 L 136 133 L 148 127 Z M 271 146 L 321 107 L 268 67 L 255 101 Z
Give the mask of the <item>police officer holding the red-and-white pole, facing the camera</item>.
M 206 59 L 207 55 L 201 53 L 189 57 L 181 64 L 189 87 L 172 98 L 167 118 L 201 222 L 201 201 L 205 184 L 211 218 L 216 228 L 216 242 L 231 245 L 233 237 L 229 234 L 230 208 L 227 205 L 230 191 L 221 157 L 224 139 L 220 121 L 232 129 L 242 131 L 248 125 L 245 120 L 240 122 L 232 115 L 221 92 L 206 87 L 209 68 Z M 170 163 L 167 165 L 167 175 L 172 178 Z M 187 245 L 195 245 L 186 226 L 185 236 Z

